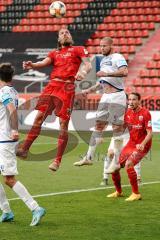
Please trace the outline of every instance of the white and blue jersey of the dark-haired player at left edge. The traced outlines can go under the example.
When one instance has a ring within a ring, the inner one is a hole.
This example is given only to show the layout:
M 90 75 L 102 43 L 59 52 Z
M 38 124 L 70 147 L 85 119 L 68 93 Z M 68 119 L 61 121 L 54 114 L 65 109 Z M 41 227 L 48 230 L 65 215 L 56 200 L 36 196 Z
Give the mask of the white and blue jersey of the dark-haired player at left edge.
M 13 103 L 18 108 L 18 93 L 10 86 L 0 88 L 0 143 L 12 141 L 10 114 L 7 110 L 7 104 Z

